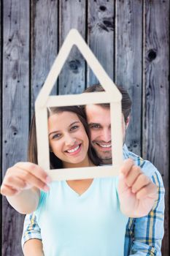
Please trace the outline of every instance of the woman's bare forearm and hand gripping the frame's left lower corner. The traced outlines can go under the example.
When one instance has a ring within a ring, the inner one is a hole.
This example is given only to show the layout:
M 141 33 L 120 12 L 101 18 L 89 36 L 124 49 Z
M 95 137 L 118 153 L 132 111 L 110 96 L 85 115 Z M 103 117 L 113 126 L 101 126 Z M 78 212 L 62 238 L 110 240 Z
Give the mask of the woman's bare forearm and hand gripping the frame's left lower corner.
M 45 170 L 31 162 L 18 162 L 10 167 L 1 184 L 1 194 L 16 211 L 28 214 L 36 210 L 39 203 L 39 189 L 47 190 L 50 177 Z

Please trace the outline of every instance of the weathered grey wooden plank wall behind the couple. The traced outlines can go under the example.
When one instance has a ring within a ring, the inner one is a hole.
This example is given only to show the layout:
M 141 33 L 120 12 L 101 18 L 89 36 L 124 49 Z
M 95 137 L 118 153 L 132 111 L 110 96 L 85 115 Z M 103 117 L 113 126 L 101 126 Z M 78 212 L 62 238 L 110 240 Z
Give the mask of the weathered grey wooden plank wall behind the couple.
M 149 159 L 166 188 L 162 254 L 169 256 L 169 1 L 0 1 L 1 178 L 26 160 L 34 101 L 69 29 L 88 42 L 115 83 L 133 100 L 126 143 Z M 52 94 L 77 94 L 97 79 L 77 48 Z M 23 255 L 23 217 L 1 200 L 1 255 Z

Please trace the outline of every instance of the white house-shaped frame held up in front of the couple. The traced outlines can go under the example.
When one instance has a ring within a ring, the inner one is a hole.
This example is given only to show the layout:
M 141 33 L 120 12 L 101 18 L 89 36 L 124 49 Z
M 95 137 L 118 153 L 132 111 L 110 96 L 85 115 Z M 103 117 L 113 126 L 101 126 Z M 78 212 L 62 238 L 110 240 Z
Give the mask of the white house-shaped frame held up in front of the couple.
M 98 78 L 99 83 L 104 88 L 104 92 L 93 92 L 87 94 L 58 95 L 50 96 L 55 81 L 61 72 L 72 46 L 77 48 L 88 62 Z M 115 83 L 109 78 L 101 64 L 98 62 L 92 51 L 85 43 L 76 29 L 69 31 L 61 50 L 56 57 L 53 67 L 50 69 L 45 84 L 35 102 L 36 114 L 36 138 L 38 164 L 53 180 L 73 180 L 82 178 L 96 178 L 118 175 L 120 165 L 123 162 L 123 135 L 122 135 L 122 113 L 121 113 L 122 95 L 115 86 Z M 81 168 L 63 168 L 50 170 L 50 155 L 47 129 L 47 108 L 66 105 L 87 105 L 87 104 L 110 104 L 111 117 L 111 135 L 112 135 L 112 162 L 110 166 L 99 167 L 81 167 Z

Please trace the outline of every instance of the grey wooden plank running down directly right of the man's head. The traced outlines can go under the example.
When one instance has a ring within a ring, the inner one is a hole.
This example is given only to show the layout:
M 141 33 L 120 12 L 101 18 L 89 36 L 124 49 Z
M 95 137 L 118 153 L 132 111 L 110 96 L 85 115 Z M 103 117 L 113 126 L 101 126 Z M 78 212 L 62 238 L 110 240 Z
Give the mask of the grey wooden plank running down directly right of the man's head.
M 116 1 L 115 83 L 128 90 L 133 105 L 126 145 L 141 155 L 142 1 Z

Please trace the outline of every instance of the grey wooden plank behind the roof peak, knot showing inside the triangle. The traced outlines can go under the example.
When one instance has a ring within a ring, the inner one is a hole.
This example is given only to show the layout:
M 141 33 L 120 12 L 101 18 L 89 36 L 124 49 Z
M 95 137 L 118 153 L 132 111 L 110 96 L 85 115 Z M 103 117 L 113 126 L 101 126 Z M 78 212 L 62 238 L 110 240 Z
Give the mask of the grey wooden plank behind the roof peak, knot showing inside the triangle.
M 85 39 L 85 1 L 60 1 L 60 46 L 70 29 Z M 85 89 L 85 59 L 74 46 L 59 75 L 59 94 L 78 94 Z

